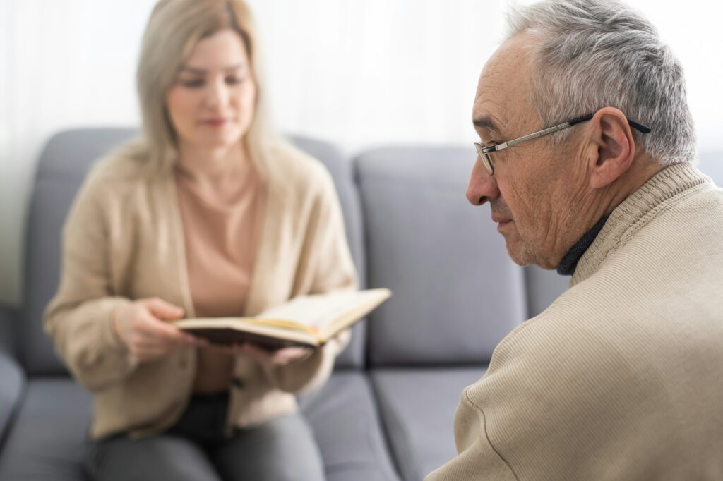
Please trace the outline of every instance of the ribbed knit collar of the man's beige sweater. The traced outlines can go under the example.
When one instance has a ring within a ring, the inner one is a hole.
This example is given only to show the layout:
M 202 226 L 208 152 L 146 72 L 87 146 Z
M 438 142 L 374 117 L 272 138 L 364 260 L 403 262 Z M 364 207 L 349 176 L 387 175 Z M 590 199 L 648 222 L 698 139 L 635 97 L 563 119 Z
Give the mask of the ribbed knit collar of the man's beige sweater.
M 664 205 L 690 189 L 711 183 L 690 163 L 664 168 L 630 194 L 610 213 L 604 226 L 578 261 L 570 287 L 586 280 L 599 269 L 613 248 L 628 241 Z

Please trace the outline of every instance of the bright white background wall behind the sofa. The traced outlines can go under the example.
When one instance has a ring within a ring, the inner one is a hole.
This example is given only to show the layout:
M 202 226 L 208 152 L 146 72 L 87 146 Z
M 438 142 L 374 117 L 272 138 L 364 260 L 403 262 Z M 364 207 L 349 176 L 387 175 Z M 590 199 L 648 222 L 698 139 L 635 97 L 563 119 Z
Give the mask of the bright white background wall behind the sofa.
M 59 129 L 137 124 L 134 66 L 154 3 L 0 0 L 0 302 L 20 301 L 25 207 L 43 142 Z M 505 0 L 249 3 L 284 131 L 347 152 L 474 139 L 476 79 L 502 34 Z M 683 61 L 701 149 L 723 149 L 721 7 L 630 3 Z

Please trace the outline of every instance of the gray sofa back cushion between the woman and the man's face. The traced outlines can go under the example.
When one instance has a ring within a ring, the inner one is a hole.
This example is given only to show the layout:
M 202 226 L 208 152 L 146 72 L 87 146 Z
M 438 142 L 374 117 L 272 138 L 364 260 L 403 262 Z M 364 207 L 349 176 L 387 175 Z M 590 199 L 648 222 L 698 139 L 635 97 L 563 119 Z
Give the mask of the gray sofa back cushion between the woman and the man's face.
M 372 365 L 487 363 L 526 319 L 522 269 L 489 207 L 465 199 L 475 158 L 459 147 L 356 158 L 369 286 L 393 291 L 369 318 Z

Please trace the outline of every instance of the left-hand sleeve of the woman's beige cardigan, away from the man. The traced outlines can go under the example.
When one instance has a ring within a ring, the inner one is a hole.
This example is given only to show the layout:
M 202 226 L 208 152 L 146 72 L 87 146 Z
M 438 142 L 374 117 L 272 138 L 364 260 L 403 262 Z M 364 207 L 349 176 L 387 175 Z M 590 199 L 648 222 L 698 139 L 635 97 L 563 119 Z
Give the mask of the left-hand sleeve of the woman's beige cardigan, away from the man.
M 114 310 L 131 301 L 111 293 L 109 207 L 102 184 L 89 175 L 70 209 L 60 285 L 45 313 L 46 332 L 61 359 L 91 391 L 122 381 L 137 365 L 112 326 Z

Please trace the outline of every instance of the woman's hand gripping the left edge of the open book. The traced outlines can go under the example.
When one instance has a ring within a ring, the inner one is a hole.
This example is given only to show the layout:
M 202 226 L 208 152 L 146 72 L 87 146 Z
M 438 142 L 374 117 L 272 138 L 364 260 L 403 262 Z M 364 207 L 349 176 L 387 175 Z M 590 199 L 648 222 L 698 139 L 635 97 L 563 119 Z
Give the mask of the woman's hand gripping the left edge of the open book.
M 130 354 L 140 362 L 164 358 L 179 347 L 207 343 L 166 321 L 181 319 L 183 309 L 158 298 L 140 299 L 117 308 L 113 327 Z

